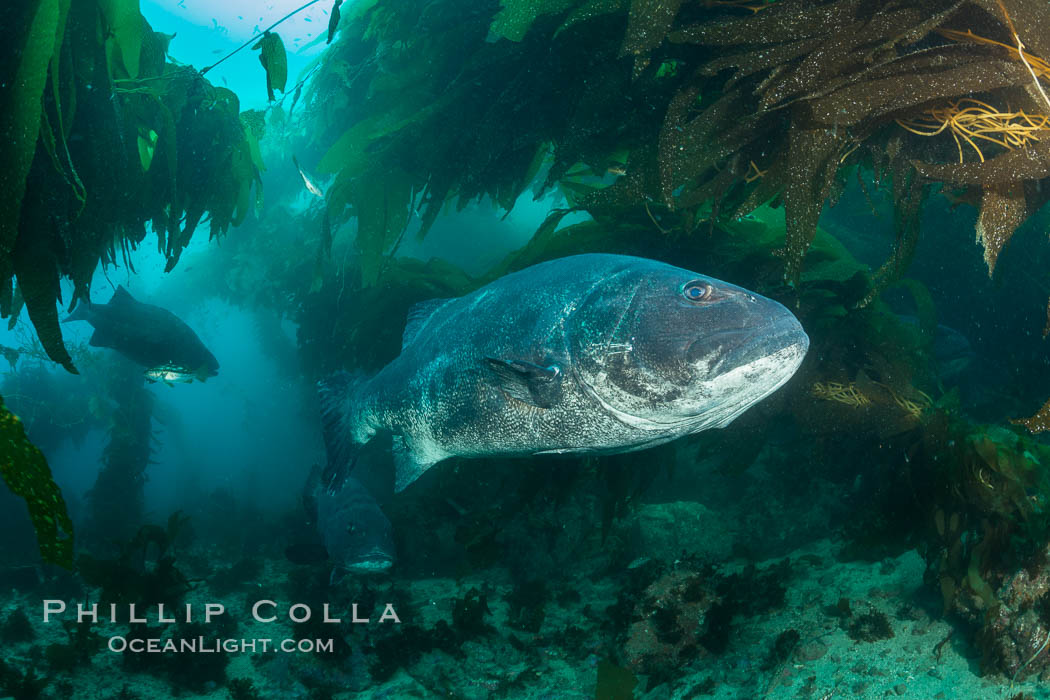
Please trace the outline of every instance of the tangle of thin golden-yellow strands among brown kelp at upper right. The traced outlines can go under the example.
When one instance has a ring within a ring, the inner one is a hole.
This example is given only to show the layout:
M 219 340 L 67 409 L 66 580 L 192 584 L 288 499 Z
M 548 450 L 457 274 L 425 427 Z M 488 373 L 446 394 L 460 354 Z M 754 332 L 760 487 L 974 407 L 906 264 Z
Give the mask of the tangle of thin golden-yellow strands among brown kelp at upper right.
M 947 105 L 931 107 L 919 116 L 898 119 L 904 129 L 920 136 L 936 136 L 949 131 L 959 147 L 959 162 L 963 163 L 965 141 L 984 163 L 985 155 L 975 140 L 983 140 L 1003 148 L 1024 148 L 1032 141 L 1040 141 L 1044 131 L 1050 131 L 1050 116 L 1028 114 L 1023 109 L 1001 111 L 986 102 L 964 98 Z

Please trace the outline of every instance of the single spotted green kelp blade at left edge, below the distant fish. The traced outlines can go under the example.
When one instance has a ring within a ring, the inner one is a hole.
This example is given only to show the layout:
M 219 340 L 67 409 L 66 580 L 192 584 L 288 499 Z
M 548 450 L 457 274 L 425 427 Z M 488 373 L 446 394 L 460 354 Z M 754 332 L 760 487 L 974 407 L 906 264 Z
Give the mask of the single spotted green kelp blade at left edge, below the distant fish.
M 40 557 L 72 568 L 72 521 L 47 460 L 25 434 L 22 421 L 0 398 L 0 476 L 12 492 L 25 500 L 37 531 Z

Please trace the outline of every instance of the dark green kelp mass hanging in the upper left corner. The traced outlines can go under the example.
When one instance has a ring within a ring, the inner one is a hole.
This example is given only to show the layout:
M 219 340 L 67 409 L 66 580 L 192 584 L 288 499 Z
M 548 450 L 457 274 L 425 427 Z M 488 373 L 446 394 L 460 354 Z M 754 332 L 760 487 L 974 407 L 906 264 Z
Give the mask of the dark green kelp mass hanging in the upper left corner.
M 138 0 L 26 0 L 0 7 L 0 316 L 24 304 L 47 355 L 99 262 L 158 233 L 170 270 L 206 214 L 239 222 L 258 179 L 256 133 L 236 96 L 166 58 Z M 15 284 L 13 284 L 13 280 Z

